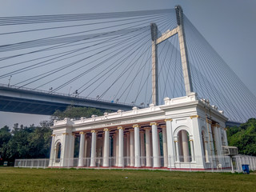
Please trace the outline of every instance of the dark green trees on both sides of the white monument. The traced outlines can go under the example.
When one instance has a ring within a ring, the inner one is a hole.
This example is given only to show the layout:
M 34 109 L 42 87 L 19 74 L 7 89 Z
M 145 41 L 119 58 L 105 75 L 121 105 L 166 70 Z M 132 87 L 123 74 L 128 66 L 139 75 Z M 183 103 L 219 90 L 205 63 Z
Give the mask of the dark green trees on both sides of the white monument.
M 22 126 L 18 123 L 10 129 L 0 129 L 0 165 L 3 161 L 14 162 L 15 158 L 50 158 L 50 143 L 54 119 L 90 118 L 92 114 L 102 115 L 104 111 L 94 108 L 69 106 L 64 111 L 56 110 L 50 121 L 40 122 L 39 126 Z M 110 112 L 110 111 L 108 111 Z M 256 119 L 250 118 L 240 126 L 228 127 L 229 146 L 237 146 L 239 154 L 256 156 Z M 78 156 L 78 140 L 75 142 L 74 156 Z

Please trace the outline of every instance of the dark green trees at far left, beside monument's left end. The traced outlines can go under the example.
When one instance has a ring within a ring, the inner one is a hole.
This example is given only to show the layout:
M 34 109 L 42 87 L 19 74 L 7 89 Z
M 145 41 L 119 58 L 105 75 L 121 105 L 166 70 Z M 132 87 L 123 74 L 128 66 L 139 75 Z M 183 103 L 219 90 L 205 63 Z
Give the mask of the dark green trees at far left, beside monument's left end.
M 49 158 L 50 125 L 41 122 L 40 126 L 20 126 L 14 124 L 13 130 L 4 126 L 0 129 L 0 155 L 2 161 L 13 162 L 15 158 Z

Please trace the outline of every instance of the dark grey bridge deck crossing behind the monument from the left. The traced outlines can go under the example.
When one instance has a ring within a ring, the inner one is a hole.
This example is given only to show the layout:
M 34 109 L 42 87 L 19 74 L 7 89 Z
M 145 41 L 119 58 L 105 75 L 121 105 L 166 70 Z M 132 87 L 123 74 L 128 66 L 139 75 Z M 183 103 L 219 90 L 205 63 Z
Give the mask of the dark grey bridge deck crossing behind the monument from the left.
M 132 105 L 68 94 L 50 94 L 43 90 L 17 89 L 0 85 L 0 110 L 25 114 L 53 114 L 66 106 L 86 106 L 102 110 L 131 110 Z

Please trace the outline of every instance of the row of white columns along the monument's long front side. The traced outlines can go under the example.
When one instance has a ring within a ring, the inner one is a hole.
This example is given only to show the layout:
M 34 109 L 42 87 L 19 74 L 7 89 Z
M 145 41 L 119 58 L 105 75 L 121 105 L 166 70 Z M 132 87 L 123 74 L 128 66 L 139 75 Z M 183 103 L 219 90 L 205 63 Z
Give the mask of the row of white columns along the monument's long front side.
M 116 157 L 116 166 L 124 166 L 124 147 L 126 147 L 126 157 L 130 157 L 130 161 L 127 163 L 128 166 L 141 167 L 147 166 L 151 167 L 151 157 L 153 152 L 153 167 L 160 167 L 160 145 L 159 145 L 159 134 L 158 126 L 156 122 L 151 122 L 151 132 L 152 132 L 152 151 L 151 151 L 151 137 L 150 137 L 150 127 L 145 129 L 144 133 L 140 134 L 140 127 L 134 125 L 126 136 L 126 142 L 124 142 L 124 130 L 122 126 L 118 126 L 118 131 L 114 134 L 113 148 L 114 156 Z M 166 139 L 166 126 L 162 127 L 162 143 L 163 143 L 163 156 L 164 156 L 164 166 L 167 167 L 167 139 Z M 110 166 L 110 130 L 104 129 L 104 146 L 103 146 L 103 162 L 102 166 Z M 83 166 L 83 158 L 85 156 L 85 132 L 80 132 L 80 148 L 79 148 L 79 160 L 78 166 Z M 125 144 L 125 146 L 124 146 Z M 146 154 L 145 154 L 146 151 Z M 141 157 L 146 156 L 145 160 L 141 161 Z M 96 131 L 91 130 L 91 150 L 90 150 L 90 166 L 96 166 Z

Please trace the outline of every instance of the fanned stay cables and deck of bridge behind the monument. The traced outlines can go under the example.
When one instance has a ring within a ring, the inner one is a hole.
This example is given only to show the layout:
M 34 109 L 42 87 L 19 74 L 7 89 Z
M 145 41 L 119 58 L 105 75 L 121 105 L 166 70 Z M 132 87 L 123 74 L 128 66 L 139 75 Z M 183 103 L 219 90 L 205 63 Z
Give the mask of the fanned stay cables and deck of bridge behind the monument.
M 158 69 L 152 67 L 150 24 L 157 26 L 156 39 L 168 36 L 178 26 L 176 14 L 166 9 L 0 18 L 0 110 L 129 110 L 155 102 L 154 82 L 159 105 L 165 97 L 185 96 L 178 34 L 158 45 Z M 185 15 L 183 25 L 193 91 L 230 120 L 255 117 L 254 94 Z

